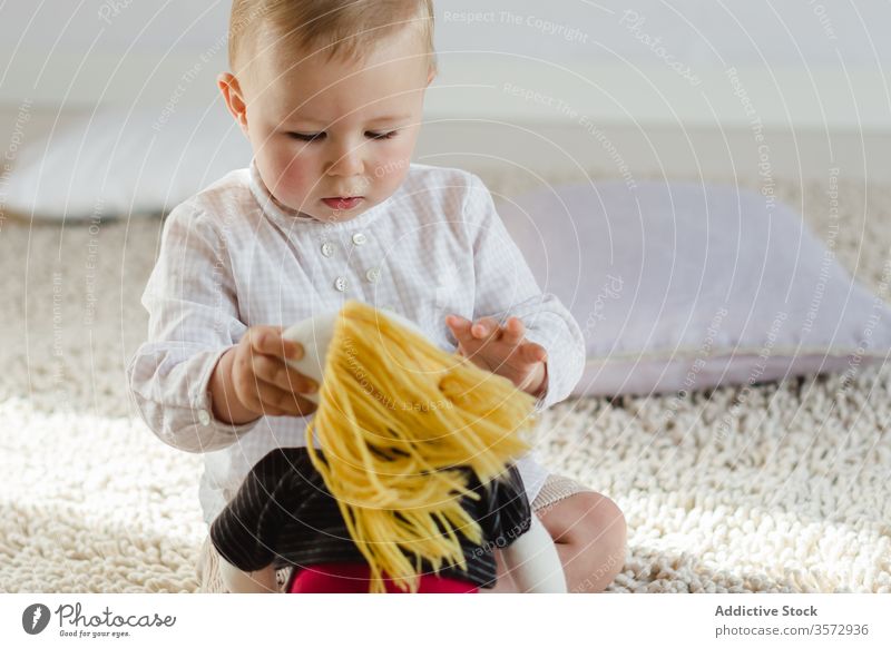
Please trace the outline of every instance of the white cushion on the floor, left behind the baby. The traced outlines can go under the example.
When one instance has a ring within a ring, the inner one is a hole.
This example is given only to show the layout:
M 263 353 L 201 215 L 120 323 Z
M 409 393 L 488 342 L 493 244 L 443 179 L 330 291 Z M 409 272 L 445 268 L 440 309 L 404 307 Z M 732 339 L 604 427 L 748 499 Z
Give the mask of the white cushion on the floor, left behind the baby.
M 40 220 L 168 212 L 251 163 L 251 146 L 221 105 L 78 114 L 19 151 L 6 208 Z

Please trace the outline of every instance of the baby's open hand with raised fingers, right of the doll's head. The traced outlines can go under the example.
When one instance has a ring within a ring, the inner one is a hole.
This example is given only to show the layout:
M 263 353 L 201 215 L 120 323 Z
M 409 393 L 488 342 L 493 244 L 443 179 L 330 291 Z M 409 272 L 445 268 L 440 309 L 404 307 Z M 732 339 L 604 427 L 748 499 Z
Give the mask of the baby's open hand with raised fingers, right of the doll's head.
M 526 327 L 517 317 L 499 326 L 492 317 L 476 323 L 459 315 L 446 317 L 458 341 L 458 351 L 481 369 L 505 376 L 517 387 L 539 395 L 547 379 L 545 347 L 523 337 Z

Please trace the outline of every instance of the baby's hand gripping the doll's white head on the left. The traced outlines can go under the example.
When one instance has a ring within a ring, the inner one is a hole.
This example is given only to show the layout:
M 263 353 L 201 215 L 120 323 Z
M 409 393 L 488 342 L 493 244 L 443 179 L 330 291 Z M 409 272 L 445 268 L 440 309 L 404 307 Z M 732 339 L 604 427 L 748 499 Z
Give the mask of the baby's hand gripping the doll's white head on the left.
M 300 360 L 303 346 L 282 337 L 281 326 L 252 326 L 221 357 L 210 377 L 214 415 L 242 424 L 260 416 L 305 416 L 315 403 L 301 396 L 319 385 L 285 359 Z

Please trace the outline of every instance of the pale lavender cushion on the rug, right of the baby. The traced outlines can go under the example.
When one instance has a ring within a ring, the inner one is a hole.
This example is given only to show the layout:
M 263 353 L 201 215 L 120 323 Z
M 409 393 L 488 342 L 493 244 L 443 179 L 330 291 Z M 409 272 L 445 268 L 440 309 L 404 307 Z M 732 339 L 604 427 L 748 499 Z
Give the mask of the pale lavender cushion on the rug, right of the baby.
M 853 372 L 889 356 L 889 306 L 760 194 L 605 181 L 537 190 L 500 214 L 581 326 L 576 395 Z

